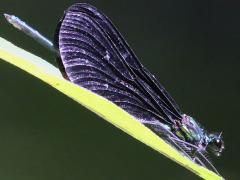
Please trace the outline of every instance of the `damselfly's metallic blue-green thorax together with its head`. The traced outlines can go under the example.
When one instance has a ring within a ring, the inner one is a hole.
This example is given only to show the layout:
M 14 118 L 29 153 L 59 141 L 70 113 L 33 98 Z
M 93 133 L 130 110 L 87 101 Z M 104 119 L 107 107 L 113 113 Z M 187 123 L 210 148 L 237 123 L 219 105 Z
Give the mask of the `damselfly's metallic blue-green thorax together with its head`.
M 220 156 L 224 149 L 221 133 L 207 133 L 191 116 L 186 114 L 182 115 L 181 121 L 176 121 L 173 129 L 178 138 L 196 146 L 197 151 L 209 149 L 216 156 Z

